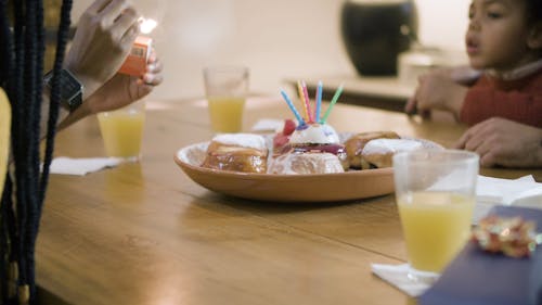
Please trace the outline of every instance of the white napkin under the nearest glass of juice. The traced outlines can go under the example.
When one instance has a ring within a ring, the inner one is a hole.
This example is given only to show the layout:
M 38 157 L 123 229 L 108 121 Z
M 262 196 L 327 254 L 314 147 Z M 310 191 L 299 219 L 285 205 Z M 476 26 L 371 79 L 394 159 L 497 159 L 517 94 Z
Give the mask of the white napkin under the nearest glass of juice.
M 430 287 L 430 284 L 426 282 L 413 281 L 409 279 L 409 264 L 371 264 L 371 270 L 383 280 L 387 281 L 391 285 L 395 285 L 412 297 L 421 295 Z

